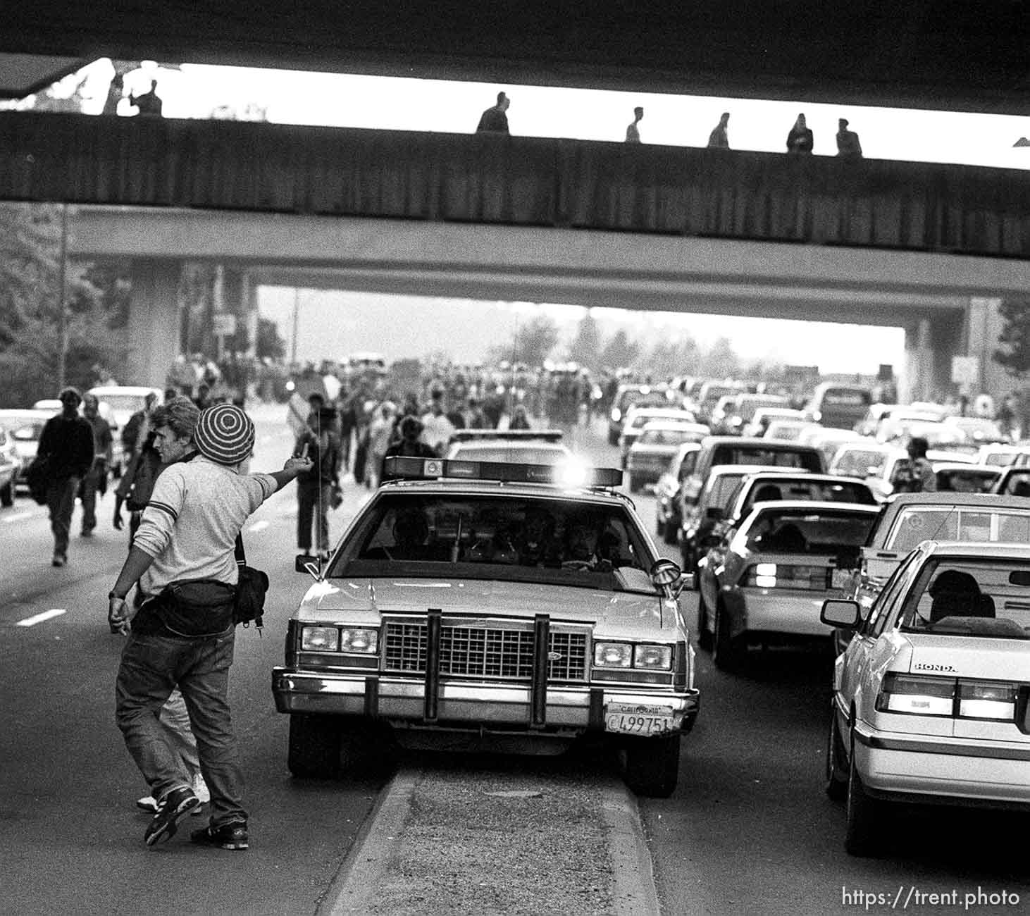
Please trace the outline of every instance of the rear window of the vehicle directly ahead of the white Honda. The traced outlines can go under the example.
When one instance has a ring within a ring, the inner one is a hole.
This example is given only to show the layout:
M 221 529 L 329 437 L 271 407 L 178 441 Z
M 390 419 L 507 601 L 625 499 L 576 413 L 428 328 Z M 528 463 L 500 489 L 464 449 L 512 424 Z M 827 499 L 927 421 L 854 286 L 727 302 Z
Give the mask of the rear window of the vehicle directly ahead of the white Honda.
M 1030 543 L 1030 509 L 912 506 L 898 513 L 884 547 L 907 553 L 922 541 Z

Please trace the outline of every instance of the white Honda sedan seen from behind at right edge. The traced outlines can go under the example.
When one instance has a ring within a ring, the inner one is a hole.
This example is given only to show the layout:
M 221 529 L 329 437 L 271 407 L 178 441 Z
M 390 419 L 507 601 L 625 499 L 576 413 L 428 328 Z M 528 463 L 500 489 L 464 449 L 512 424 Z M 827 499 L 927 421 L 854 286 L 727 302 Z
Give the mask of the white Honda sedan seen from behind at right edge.
M 849 853 L 876 854 L 893 802 L 1030 812 L 1025 543 L 925 541 L 864 621 L 847 600 L 821 618 L 857 631 L 834 666 L 826 759 Z

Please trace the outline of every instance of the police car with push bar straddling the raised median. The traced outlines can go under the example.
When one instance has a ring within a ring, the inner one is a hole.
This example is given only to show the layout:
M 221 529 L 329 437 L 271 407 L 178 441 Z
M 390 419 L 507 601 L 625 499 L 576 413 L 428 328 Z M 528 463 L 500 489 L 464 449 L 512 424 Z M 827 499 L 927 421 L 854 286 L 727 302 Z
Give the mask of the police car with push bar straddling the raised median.
M 370 746 L 622 752 L 667 795 L 699 707 L 679 606 L 617 469 L 391 457 L 289 621 L 273 672 L 288 766 Z M 573 475 L 573 476 L 570 476 Z M 344 768 L 346 769 L 346 768 Z

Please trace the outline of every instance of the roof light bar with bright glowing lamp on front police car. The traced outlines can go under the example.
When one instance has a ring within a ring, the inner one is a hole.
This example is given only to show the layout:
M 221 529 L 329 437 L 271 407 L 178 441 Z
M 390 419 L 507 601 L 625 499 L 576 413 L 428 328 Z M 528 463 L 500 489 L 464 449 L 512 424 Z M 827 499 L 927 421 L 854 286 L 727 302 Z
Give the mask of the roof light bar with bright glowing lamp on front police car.
M 383 474 L 405 480 L 495 480 L 505 483 L 551 483 L 569 487 L 613 487 L 622 483 L 618 468 L 589 468 L 576 462 L 559 465 L 516 465 L 504 462 L 467 462 L 391 455 Z

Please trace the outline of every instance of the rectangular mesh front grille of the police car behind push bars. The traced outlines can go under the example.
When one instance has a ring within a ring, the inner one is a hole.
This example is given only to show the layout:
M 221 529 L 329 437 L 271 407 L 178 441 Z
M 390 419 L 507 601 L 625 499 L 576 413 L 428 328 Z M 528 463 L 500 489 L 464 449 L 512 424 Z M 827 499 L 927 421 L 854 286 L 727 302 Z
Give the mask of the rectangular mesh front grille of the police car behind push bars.
M 388 622 L 383 670 L 425 671 L 424 623 Z M 550 634 L 549 680 L 586 680 L 585 633 Z M 533 677 L 533 631 L 485 626 L 443 626 L 440 631 L 440 673 L 462 677 L 529 680 Z

